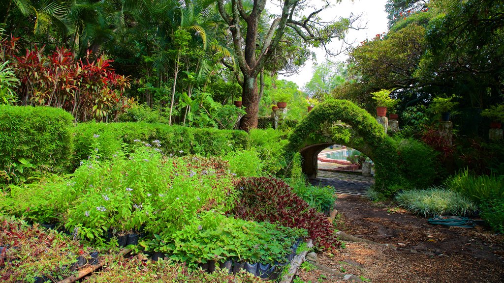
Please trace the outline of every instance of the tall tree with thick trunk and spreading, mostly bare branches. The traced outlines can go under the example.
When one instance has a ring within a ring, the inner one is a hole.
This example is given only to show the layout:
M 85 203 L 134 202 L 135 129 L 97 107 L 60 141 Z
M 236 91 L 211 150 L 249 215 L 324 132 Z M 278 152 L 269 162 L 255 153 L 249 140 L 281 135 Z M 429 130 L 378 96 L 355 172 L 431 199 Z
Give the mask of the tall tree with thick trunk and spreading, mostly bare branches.
M 257 127 L 257 79 L 265 64 L 277 52 L 286 30 L 291 29 L 296 36 L 314 46 L 326 46 L 332 38 L 344 39 L 355 20 L 340 18 L 333 23 L 323 22 L 319 13 L 329 6 L 328 3 L 306 16 L 303 12 L 311 9 L 308 1 L 282 0 L 279 3 L 281 14 L 274 16 L 266 36 L 259 42 L 259 23 L 266 2 L 267 0 L 254 0 L 251 9 L 246 9 L 242 0 L 217 0 L 219 13 L 231 32 L 236 67 L 243 77 L 241 98 L 247 114 L 242 118 L 240 127 L 244 130 Z

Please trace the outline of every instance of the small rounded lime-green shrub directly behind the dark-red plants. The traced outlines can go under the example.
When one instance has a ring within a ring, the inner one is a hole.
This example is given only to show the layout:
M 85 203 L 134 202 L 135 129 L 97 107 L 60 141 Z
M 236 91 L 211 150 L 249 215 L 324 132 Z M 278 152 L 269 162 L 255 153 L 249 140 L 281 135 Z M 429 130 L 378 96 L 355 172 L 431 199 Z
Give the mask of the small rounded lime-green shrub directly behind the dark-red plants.
M 263 175 L 263 162 L 254 149 L 228 152 L 223 159 L 229 163 L 231 172 L 238 177 L 259 177 Z

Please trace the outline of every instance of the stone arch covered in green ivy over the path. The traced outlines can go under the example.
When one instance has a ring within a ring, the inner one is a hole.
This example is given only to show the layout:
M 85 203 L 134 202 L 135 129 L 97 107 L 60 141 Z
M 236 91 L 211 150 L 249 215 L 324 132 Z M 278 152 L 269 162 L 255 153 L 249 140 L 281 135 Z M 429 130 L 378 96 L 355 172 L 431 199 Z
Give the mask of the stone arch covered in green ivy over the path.
M 337 121 L 344 124 L 335 124 Z M 305 162 L 306 158 L 316 160 L 318 152 L 333 144 L 349 146 L 368 156 L 374 163 L 375 188 L 385 195 L 393 193 L 394 189 L 389 188 L 405 183 L 398 169 L 395 140 L 366 110 L 348 100 L 329 100 L 314 107 L 289 137 L 286 151 L 289 156 L 304 152 L 305 160 L 301 162 Z

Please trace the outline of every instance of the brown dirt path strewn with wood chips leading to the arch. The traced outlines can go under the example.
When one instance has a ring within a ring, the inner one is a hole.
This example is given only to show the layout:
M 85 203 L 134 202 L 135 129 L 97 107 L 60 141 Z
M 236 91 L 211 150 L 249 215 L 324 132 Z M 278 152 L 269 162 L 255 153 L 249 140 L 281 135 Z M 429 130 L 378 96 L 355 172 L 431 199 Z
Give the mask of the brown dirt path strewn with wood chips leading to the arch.
M 336 254 L 319 254 L 320 263 L 371 282 L 504 282 L 504 235 L 488 228 L 433 226 L 393 203 L 373 203 L 339 195 L 338 230 L 418 251 L 397 252 L 382 245 L 346 243 Z M 304 282 L 343 282 L 321 270 L 300 269 Z

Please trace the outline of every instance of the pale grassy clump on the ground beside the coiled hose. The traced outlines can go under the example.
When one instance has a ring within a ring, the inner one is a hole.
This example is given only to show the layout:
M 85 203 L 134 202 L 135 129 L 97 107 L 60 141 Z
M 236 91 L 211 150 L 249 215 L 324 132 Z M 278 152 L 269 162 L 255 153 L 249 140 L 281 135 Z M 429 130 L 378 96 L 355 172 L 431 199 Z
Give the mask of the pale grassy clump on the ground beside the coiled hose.
M 396 200 L 400 206 L 424 217 L 468 215 L 476 209 L 471 200 L 460 193 L 442 187 L 402 191 L 397 194 Z

